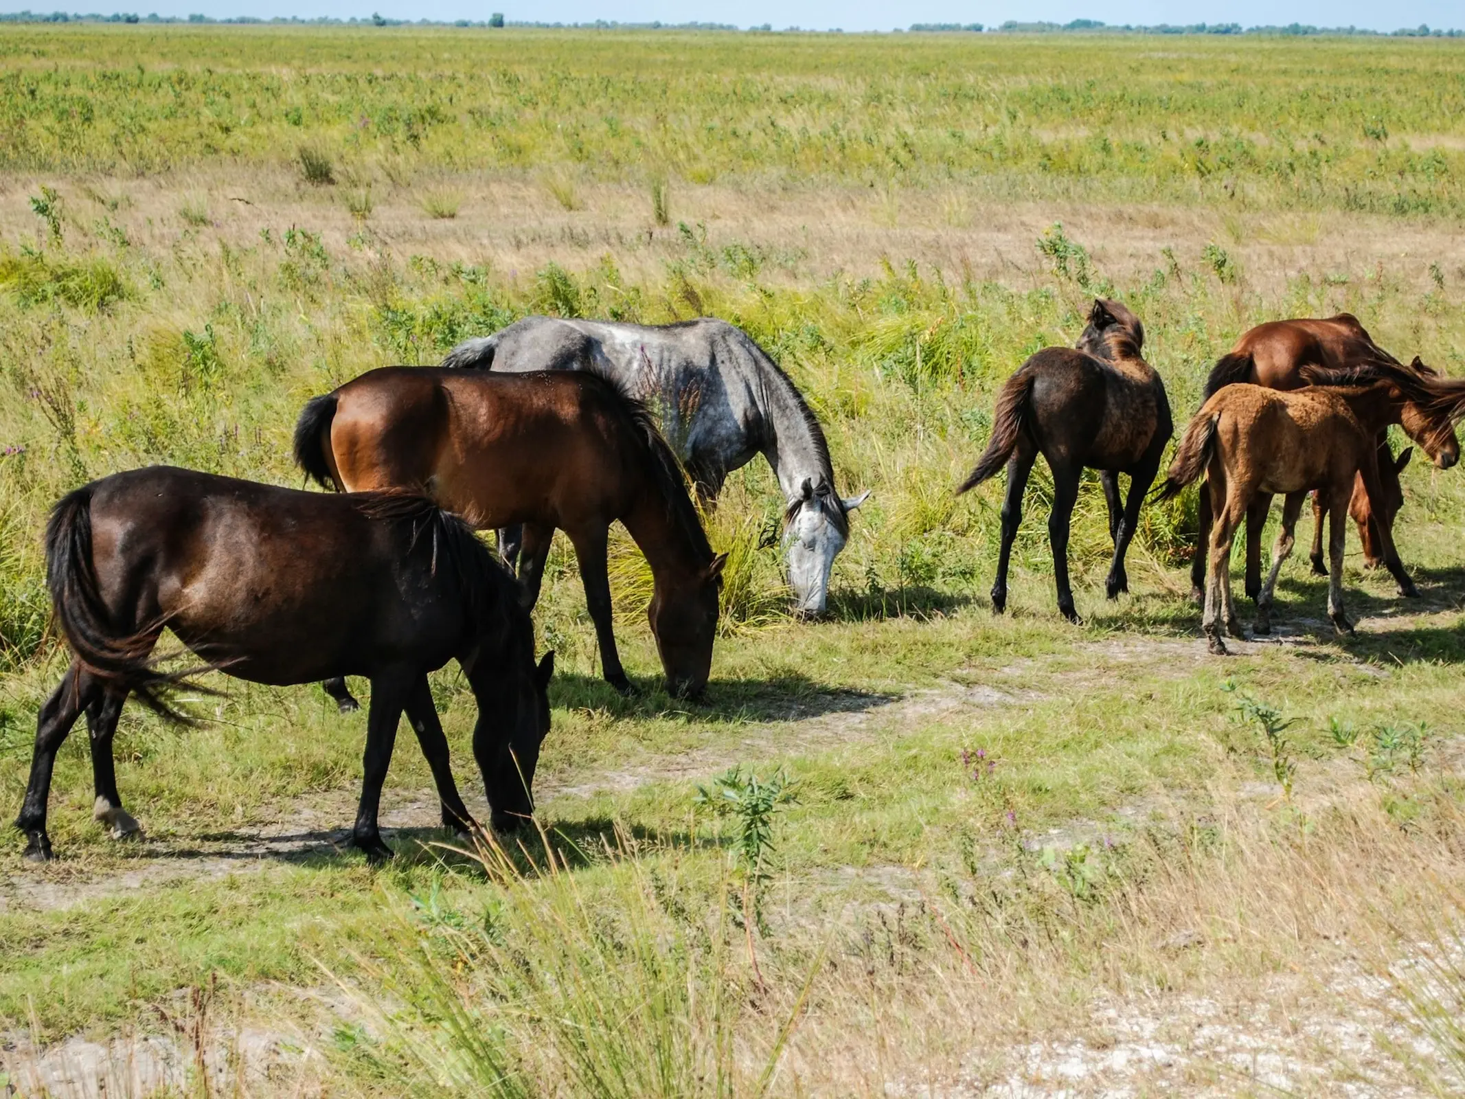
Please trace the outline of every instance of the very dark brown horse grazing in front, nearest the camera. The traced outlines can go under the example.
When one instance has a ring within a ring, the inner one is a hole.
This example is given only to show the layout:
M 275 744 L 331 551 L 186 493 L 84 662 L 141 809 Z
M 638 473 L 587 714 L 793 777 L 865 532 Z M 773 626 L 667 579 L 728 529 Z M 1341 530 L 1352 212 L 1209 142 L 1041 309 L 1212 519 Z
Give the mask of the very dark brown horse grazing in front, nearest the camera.
M 463 667 L 478 702 L 473 755 L 494 826 L 533 810 L 554 654 L 535 665 L 533 624 L 513 577 L 431 500 L 322 497 L 152 466 L 64 497 L 45 530 L 45 570 L 73 656 L 37 718 L 16 819 L 26 859 L 51 857 L 51 768 L 84 712 L 95 816 L 116 838 L 139 831 L 117 793 L 113 734 L 129 695 L 188 721 L 168 693 L 192 673 L 164 673 L 151 659 L 164 627 L 208 667 L 253 683 L 371 678 L 352 843 L 374 862 L 391 856 L 377 807 L 403 711 L 432 766 L 442 822 L 459 831 L 473 824 L 428 689 L 428 673 L 448 659 Z

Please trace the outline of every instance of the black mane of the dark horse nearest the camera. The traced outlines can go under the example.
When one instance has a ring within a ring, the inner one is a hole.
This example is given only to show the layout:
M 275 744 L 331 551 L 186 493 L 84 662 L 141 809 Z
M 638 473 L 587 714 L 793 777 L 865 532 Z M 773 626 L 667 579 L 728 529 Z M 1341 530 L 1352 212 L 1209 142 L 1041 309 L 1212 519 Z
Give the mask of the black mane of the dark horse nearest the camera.
M 475 633 L 514 624 L 513 610 L 519 608 L 514 579 L 473 528 L 428 497 L 406 489 L 353 492 L 352 501 L 368 519 L 397 526 L 409 554 L 425 545 L 434 574 L 440 569 L 453 570 Z

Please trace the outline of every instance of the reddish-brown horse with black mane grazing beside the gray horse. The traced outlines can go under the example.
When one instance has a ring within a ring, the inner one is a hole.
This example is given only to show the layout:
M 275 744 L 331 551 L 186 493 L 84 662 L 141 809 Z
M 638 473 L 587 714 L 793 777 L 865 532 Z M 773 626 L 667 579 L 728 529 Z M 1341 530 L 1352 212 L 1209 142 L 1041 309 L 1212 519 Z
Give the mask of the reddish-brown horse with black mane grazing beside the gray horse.
M 294 456 L 338 491 L 410 488 L 479 529 L 524 525 L 519 579 L 539 598 L 555 529 L 574 544 L 607 681 L 628 692 L 615 651 L 607 538 L 617 519 L 655 580 L 648 614 L 667 686 L 700 695 L 712 667 L 725 554 L 713 554 L 681 467 L 650 416 L 585 371 L 498 374 L 388 366 L 314 399 Z M 344 684 L 328 684 L 350 703 Z

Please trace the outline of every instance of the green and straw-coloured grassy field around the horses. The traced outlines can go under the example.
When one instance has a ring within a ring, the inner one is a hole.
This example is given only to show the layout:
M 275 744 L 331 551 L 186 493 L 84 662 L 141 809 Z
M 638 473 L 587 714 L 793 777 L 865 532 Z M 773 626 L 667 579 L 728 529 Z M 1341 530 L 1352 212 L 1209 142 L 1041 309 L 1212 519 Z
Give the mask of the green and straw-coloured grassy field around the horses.
M 73 739 L 62 859 L 0 854 L 0 1093 L 1465 1083 L 1461 475 L 1405 473 L 1420 602 L 1351 542 L 1338 640 L 1299 554 L 1277 636 L 1228 659 L 1187 598 L 1193 495 L 1146 508 L 1106 604 L 1086 484 L 1083 627 L 1046 470 L 1005 617 L 1001 485 L 951 495 L 996 387 L 1099 293 L 1181 421 L 1275 317 L 1346 309 L 1465 375 L 1459 44 L 4 26 L 0 59 L 0 804 L 64 667 L 50 504 L 155 462 L 299 485 L 299 407 L 372 366 L 527 312 L 712 314 L 873 491 L 800 623 L 760 548 L 776 485 L 731 479 L 696 706 L 658 686 L 624 541 L 643 690 L 599 681 L 557 544 L 545 831 L 513 851 L 434 845 L 410 743 L 400 857 L 338 851 L 365 721 L 314 686 L 229 684 L 189 731 L 129 709 L 136 844 L 92 824 Z M 473 787 L 472 697 L 434 690 Z

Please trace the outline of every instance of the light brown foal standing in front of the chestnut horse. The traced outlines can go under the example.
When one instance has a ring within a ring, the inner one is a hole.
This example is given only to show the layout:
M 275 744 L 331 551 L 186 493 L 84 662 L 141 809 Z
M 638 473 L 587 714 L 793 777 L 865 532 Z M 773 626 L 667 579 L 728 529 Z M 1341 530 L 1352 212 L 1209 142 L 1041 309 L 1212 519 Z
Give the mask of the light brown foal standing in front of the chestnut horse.
M 1185 429 L 1159 497 L 1171 498 L 1206 475 L 1214 522 L 1210 535 L 1212 574 L 1206 588 L 1203 630 L 1213 654 L 1226 652 L 1225 629 L 1242 637 L 1231 596 L 1231 542 L 1258 501 L 1286 495 L 1272 571 L 1257 593 L 1256 633 L 1272 632 L 1277 573 L 1292 552 L 1294 528 L 1308 489 L 1324 498 L 1329 522 L 1327 617 L 1339 633 L 1352 633 L 1343 611 L 1343 541 L 1348 500 L 1361 476 L 1374 513 L 1381 513 L 1379 431 L 1399 416 L 1401 404 L 1449 425 L 1465 412 L 1465 384 L 1431 380 L 1408 368 L 1377 363 L 1349 371 L 1302 368 L 1301 390 L 1270 390 L 1238 382 L 1216 391 Z M 1263 513 L 1264 517 L 1264 513 Z M 1384 567 L 1401 591 L 1412 588 L 1387 523 L 1379 525 Z

